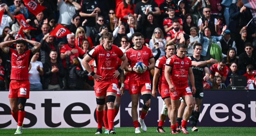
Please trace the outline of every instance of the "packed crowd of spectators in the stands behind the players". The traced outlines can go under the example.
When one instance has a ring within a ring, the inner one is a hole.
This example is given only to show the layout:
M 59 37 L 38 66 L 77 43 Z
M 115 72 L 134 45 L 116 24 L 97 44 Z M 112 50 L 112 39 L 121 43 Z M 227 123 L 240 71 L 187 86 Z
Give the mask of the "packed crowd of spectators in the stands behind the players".
M 224 84 L 230 89 L 234 75 L 247 76 L 247 89 L 256 88 L 256 14 L 242 0 L 35 1 L 46 7 L 36 16 L 22 0 L 0 0 L 0 10 L 4 10 L 0 42 L 17 39 L 21 26 L 14 16 L 23 14 L 26 22 L 36 28 L 23 30 L 25 39 L 42 45 L 29 66 L 31 90 L 93 89 L 93 78 L 80 61 L 102 44 L 101 36 L 106 32 L 113 33 L 113 44 L 124 53 L 133 47 L 132 34 L 141 32 L 143 45 L 152 49 L 155 60 L 165 55 L 166 43 L 178 44 L 184 33 L 187 56 L 193 55 L 195 43 L 201 43 L 202 58 L 219 61 L 208 65 L 211 75 L 205 88 L 223 89 Z M 58 24 L 72 33 L 61 38 L 49 35 Z M 9 47 L 16 48 L 15 44 Z M 94 60 L 89 64 L 93 68 Z M 10 74 L 10 56 L 1 50 L 0 90 L 8 90 Z M 129 74 L 126 76 L 129 80 Z

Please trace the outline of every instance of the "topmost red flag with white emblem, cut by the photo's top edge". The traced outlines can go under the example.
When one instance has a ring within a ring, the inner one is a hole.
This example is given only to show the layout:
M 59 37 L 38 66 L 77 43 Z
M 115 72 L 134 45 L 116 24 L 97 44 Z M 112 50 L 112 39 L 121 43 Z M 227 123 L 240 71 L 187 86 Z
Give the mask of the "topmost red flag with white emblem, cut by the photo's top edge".
M 28 11 L 30 11 L 35 16 L 42 12 L 46 7 L 41 6 L 39 3 L 35 2 L 34 0 L 23 0 Z

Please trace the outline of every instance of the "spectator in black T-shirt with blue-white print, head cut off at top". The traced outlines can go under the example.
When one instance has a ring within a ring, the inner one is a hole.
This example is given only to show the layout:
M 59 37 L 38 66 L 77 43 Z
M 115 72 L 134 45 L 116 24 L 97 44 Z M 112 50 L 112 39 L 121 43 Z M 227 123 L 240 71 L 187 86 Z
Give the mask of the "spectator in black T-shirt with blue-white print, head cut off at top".
M 135 5 L 134 16 L 145 14 L 146 10 L 152 12 L 153 15 L 161 15 L 161 11 L 155 1 L 141 0 Z

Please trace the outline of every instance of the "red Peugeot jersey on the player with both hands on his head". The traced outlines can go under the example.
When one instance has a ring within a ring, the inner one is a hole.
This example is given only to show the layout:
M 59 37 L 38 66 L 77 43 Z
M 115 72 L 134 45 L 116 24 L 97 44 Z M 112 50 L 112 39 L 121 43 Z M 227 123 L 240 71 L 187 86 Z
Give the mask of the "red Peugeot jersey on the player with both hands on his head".
M 28 80 L 28 67 L 31 57 L 31 49 L 28 49 L 23 54 L 10 48 L 9 55 L 11 56 L 11 80 Z

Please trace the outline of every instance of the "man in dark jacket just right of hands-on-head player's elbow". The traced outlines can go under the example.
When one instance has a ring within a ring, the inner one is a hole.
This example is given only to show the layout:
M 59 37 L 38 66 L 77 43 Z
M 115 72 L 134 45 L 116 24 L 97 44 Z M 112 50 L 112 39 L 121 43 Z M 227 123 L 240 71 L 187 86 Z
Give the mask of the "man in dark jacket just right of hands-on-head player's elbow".
M 59 54 L 60 50 L 56 41 L 52 35 L 49 33 L 44 35 L 44 38 L 41 39 L 41 62 L 44 64 L 46 62 L 50 62 L 51 58 L 49 56 L 51 50 L 55 50 L 57 54 Z

